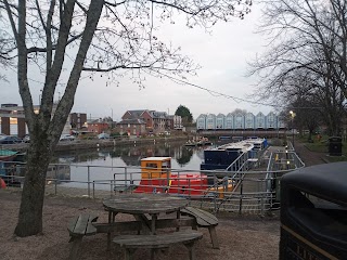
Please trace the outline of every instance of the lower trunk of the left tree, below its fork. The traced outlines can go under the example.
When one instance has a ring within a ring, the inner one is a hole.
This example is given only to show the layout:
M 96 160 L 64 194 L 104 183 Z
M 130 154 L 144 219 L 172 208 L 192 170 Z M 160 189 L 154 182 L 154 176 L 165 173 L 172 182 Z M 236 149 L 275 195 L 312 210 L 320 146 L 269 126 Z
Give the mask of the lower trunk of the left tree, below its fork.
M 42 233 L 42 208 L 47 169 L 52 156 L 47 140 L 30 142 L 18 222 L 14 234 L 21 237 Z

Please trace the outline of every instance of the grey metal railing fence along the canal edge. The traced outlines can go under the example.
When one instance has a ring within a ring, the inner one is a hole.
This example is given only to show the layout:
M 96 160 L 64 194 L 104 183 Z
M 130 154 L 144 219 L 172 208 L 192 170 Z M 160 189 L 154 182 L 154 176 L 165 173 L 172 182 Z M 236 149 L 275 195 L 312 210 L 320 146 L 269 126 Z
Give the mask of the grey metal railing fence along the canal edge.
M 176 195 L 187 197 L 193 206 L 210 209 L 214 212 L 265 214 L 267 211 L 279 209 L 281 177 L 305 166 L 296 153 L 290 150 L 271 152 L 268 156 L 259 157 L 256 164 L 254 159 L 242 159 L 242 167 L 237 171 L 184 170 L 185 174 L 207 174 L 209 184 L 204 193 L 192 195 L 196 193 L 196 186 L 191 185 L 187 180 L 188 185 L 178 187 Z M 1 164 L 0 174 L 5 179 L 9 187 L 22 188 L 25 164 L 14 161 Z M 177 180 L 181 178 L 183 171 L 171 169 L 172 174 L 177 174 L 175 178 Z M 99 178 L 101 176 L 108 178 Z M 155 192 L 168 191 L 167 183 L 172 180 L 169 174 L 162 179 L 166 184 L 154 186 Z M 102 199 L 117 196 L 119 193 L 132 193 L 139 187 L 140 182 L 140 167 L 52 164 L 47 173 L 46 193 Z M 232 183 L 232 191 L 228 190 L 228 183 Z

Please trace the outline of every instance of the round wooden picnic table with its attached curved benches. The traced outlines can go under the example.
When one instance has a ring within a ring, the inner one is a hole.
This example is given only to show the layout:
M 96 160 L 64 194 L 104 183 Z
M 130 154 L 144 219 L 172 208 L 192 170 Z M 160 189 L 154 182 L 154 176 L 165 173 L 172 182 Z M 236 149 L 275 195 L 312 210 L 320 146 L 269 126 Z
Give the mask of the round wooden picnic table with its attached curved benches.
M 207 212 L 196 211 L 188 207 L 188 200 L 183 197 L 175 197 L 169 194 L 120 194 L 113 198 L 103 200 L 104 208 L 108 211 L 108 223 L 97 223 L 97 216 L 81 214 L 72 219 L 68 231 L 74 240 L 69 259 L 77 259 L 79 245 L 83 236 L 97 233 L 107 233 L 107 249 L 111 248 L 111 234 L 113 232 L 132 232 L 138 234 L 117 235 L 113 242 L 126 249 L 126 259 L 131 259 L 138 248 L 151 249 L 151 259 L 158 249 L 166 250 L 172 244 L 182 243 L 189 250 L 190 260 L 194 260 L 194 243 L 203 237 L 203 233 L 195 231 L 197 226 L 205 226 L 206 219 L 208 226 L 213 219 Z M 185 210 L 187 209 L 187 210 Z M 184 211 L 185 210 L 185 211 Z M 181 212 L 190 217 L 181 218 Z M 187 212 L 189 211 L 189 212 Z M 117 213 L 128 213 L 136 218 L 136 221 L 116 222 Z M 176 216 L 159 218 L 163 213 L 176 213 Z M 201 217 L 205 222 L 201 222 Z M 198 220 L 197 220 L 198 219 Z M 182 226 L 191 226 L 193 230 L 180 231 Z M 160 232 L 159 229 L 176 227 L 177 232 Z M 217 237 L 213 237 L 214 238 Z M 217 245 L 214 242 L 214 247 Z M 218 245 L 217 245 L 218 246 Z

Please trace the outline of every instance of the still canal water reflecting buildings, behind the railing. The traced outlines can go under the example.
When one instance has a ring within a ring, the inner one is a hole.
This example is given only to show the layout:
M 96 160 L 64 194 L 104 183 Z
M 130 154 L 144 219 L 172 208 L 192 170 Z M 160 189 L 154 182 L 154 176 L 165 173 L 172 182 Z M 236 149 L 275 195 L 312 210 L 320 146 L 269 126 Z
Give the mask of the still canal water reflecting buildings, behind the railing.
M 85 182 L 94 181 L 97 190 L 110 188 L 110 184 L 105 184 L 110 180 L 117 180 L 119 185 L 125 183 L 125 179 L 137 180 L 134 184 L 138 184 L 142 158 L 169 156 L 172 158 L 172 171 L 198 172 L 204 159 L 204 150 L 209 147 L 211 146 L 187 147 L 184 142 L 168 142 L 57 153 L 52 164 L 67 166 L 57 171 L 49 171 L 48 178 L 56 178 L 60 185 L 68 187 L 82 187 L 86 186 Z

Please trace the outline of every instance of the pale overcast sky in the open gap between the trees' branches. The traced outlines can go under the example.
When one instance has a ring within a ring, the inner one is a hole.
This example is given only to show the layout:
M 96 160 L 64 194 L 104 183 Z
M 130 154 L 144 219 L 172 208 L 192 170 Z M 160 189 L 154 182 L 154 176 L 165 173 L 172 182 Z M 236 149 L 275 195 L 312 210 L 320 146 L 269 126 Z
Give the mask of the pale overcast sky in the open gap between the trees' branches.
M 246 78 L 247 61 L 264 51 L 265 37 L 255 34 L 259 22 L 260 8 L 256 4 L 252 13 L 244 20 L 234 18 L 232 23 L 219 23 L 211 34 L 202 28 L 189 29 L 182 23 L 164 25 L 156 32 L 159 38 L 176 47 L 182 48 L 182 53 L 189 55 L 202 68 L 197 76 L 188 81 L 202 88 L 223 93 L 230 96 L 249 99 L 256 83 L 256 78 Z M 1 103 L 18 103 L 22 105 L 17 90 L 16 75 L 8 72 L 10 83 L 1 82 Z M 86 76 L 86 75 L 83 75 Z M 29 83 L 35 82 L 30 77 Z M 104 77 L 105 78 L 105 77 Z M 106 86 L 104 78 L 97 76 L 94 80 L 83 78 L 77 90 L 75 106 L 72 112 L 87 113 L 88 118 L 112 116 L 119 120 L 126 110 L 153 109 L 174 114 L 179 105 L 187 106 L 194 119 L 200 114 L 228 114 L 235 108 L 248 112 L 269 113 L 272 108 L 237 103 L 232 99 L 211 94 L 189 84 L 177 84 L 168 79 L 146 77 L 145 89 L 139 89 L 130 79 L 119 80 L 119 86 Z M 33 91 L 33 99 L 38 104 L 40 87 Z M 62 92 L 63 89 L 57 91 Z M 59 95 L 59 94 L 57 94 Z

